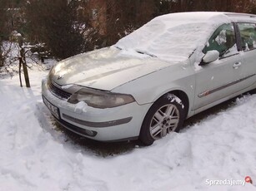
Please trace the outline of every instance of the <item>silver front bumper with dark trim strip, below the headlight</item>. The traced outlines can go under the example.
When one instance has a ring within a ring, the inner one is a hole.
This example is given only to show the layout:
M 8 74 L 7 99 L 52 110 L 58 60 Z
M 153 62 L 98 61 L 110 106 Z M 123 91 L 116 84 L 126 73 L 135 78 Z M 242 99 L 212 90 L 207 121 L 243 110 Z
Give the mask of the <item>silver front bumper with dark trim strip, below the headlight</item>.
M 43 102 L 58 122 L 68 130 L 93 140 L 118 141 L 138 138 L 144 116 L 151 104 L 133 102 L 114 108 L 98 109 L 88 105 L 70 104 L 48 90 L 42 81 Z

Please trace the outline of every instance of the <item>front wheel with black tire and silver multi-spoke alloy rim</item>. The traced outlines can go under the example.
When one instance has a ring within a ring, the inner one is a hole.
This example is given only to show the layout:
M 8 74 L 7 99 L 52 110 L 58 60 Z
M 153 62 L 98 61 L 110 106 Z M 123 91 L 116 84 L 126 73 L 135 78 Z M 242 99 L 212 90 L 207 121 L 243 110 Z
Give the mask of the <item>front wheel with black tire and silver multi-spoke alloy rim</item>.
M 140 130 L 139 140 L 145 145 L 163 138 L 170 132 L 178 132 L 185 118 L 182 101 L 173 94 L 159 98 L 148 110 Z

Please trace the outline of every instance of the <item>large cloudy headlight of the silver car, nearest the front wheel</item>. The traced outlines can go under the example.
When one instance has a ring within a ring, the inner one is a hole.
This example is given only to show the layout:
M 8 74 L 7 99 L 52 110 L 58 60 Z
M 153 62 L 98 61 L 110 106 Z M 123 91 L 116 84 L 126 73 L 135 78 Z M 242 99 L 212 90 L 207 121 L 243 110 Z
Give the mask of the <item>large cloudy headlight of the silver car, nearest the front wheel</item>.
M 72 104 L 77 104 L 79 101 L 84 101 L 92 107 L 104 109 L 126 105 L 135 100 L 131 95 L 82 88 L 68 99 L 68 102 Z

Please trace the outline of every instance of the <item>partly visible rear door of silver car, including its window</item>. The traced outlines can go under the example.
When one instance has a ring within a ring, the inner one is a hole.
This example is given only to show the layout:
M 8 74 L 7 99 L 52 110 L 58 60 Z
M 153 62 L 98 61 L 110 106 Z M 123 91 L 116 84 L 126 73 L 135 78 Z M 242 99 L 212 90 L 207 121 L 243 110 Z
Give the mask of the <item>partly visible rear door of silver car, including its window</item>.
M 252 86 L 256 81 L 256 24 L 238 22 L 239 40 L 242 49 L 242 79 L 245 87 Z

